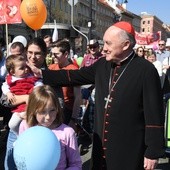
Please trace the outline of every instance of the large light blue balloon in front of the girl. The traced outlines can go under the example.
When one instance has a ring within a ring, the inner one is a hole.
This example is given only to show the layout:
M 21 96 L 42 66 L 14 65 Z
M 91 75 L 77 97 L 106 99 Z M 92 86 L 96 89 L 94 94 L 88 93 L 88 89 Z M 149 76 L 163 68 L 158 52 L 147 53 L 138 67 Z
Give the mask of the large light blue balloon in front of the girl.
M 43 126 L 27 129 L 14 143 L 14 161 L 18 170 L 54 170 L 60 153 L 57 137 Z

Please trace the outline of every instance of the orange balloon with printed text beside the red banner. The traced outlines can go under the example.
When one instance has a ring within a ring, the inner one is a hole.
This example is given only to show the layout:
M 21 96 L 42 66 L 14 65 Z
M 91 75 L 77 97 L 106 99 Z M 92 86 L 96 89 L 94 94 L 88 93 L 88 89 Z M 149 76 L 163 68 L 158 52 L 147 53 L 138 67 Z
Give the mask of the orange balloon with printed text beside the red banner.
M 33 30 L 39 30 L 47 18 L 47 9 L 42 0 L 23 0 L 20 13 L 24 22 Z

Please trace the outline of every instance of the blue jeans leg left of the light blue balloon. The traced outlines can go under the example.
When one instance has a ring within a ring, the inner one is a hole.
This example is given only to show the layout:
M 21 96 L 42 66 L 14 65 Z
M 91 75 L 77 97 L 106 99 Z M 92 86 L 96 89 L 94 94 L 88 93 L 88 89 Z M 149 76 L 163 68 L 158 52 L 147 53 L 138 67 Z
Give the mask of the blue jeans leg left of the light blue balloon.
M 13 158 L 13 144 L 17 139 L 17 135 L 13 131 L 9 131 L 8 139 L 7 139 L 7 146 L 6 146 L 6 155 L 5 155 L 5 162 L 4 167 L 5 170 L 15 170 L 15 162 Z

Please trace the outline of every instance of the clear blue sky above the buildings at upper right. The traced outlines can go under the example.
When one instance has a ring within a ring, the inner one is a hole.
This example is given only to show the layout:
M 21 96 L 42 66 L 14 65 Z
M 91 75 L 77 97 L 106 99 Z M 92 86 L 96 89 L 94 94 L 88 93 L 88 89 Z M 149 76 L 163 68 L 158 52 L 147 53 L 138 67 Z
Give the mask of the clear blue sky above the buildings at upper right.
M 162 22 L 170 24 L 170 0 L 128 0 L 127 10 L 137 15 L 147 12 L 157 16 Z

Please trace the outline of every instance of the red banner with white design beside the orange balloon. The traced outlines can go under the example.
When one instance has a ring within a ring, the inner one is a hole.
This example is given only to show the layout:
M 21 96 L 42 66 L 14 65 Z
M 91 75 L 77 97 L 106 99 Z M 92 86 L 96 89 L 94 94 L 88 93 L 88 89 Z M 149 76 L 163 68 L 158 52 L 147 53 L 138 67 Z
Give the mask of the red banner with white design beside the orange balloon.
M 21 23 L 21 0 L 0 0 L 0 24 Z

